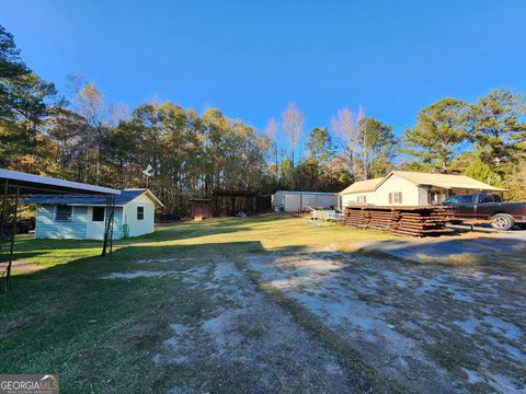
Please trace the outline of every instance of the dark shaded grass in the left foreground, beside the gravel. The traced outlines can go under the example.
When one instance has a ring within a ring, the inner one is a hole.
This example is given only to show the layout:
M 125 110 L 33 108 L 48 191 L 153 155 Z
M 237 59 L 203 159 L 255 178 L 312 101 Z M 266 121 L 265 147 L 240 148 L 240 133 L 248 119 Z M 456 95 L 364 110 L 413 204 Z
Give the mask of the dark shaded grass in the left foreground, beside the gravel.
M 178 277 L 102 277 L 185 270 L 209 264 L 217 254 L 262 251 L 260 242 L 129 246 L 105 257 L 72 259 L 14 276 L 11 290 L 0 293 L 0 373 L 53 371 L 69 393 L 87 386 L 105 392 L 110 381 L 112 392 L 167 391 L 176 373 L 170 366 L 155 364 L 151 351 L 170 336 L 174 318 L 199 321 L 210 309 L 209 294 Z M 134 262 L 168 256 L 173 258 L 169 268 L 163 263 Z

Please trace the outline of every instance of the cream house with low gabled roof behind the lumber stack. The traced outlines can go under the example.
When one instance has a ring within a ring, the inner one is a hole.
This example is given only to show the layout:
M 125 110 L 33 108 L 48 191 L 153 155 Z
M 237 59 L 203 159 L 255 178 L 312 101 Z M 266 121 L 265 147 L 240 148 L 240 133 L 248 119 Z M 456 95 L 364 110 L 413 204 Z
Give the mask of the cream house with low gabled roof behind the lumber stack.
M 481 192 L 505 192 L 466 175 L 392 171 L 382 178 L 355 182 L 340 192 L 341 205 L 427 206 L 449 196 Z

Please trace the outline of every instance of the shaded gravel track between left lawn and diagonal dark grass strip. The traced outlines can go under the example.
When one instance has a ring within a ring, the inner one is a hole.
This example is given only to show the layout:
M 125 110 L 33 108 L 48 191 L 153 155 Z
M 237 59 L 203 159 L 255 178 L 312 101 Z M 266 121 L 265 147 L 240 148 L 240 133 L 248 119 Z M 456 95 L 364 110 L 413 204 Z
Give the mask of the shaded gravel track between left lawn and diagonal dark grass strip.
M 163 263 L 170 266 L 170 259 Z M 338 360 L 259 292 L 233 263 L 217 257 L 186 270 L 146 270 L 145 264 L 138 268 L 104 278 L 172 276 L 210 300 L 203 306 L 204 320 L 174 316 L 173 336 L 153 356 L 156 363 L 187 371 L 170 393 L 354 392 Z

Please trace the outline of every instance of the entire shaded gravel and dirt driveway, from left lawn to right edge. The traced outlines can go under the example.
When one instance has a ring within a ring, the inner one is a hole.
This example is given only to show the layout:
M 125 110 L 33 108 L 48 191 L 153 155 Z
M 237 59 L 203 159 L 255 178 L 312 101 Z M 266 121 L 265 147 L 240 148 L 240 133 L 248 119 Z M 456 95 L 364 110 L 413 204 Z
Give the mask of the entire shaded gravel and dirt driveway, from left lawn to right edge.
M 385 392 L 526 393 L 524 265 L 319 250 L 133 264 L 103 278 L 173 278 L 207 300 L 196 318 L 174 314 L 171 337 L 156 350 L 156 363 L 178 371 L 170 393 L 364 392 L 362 359 Z M 299 306 L 274 302 L 262 285 Z M 334 338 L 359 355 L 356 364 L 328 346 Z

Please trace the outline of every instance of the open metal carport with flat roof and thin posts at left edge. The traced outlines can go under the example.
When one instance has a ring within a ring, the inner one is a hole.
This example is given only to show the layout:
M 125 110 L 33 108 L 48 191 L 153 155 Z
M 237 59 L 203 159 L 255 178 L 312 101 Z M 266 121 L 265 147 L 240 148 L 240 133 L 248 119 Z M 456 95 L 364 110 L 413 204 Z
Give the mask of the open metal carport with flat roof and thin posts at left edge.
M 102 255 L 104 256 L 106 254 L 108 243 L 110 253 L 112 252 L 113 209 L 115 206 L 115 196 L 119 195 L 121 190 L 3 169 L 0 169 L 0 280 L 4 282 L 3 287 L 5 290 L 9 288 L 9 278 L 11 276 L 19 200 L 22 195 L 56 193 L 105 196 L 107 213 Z M 11 216 L 9 215 L 9 208 L 12 208 Z M 7 246 L 8 248 L 5 248 Z

